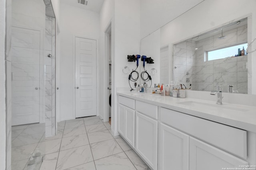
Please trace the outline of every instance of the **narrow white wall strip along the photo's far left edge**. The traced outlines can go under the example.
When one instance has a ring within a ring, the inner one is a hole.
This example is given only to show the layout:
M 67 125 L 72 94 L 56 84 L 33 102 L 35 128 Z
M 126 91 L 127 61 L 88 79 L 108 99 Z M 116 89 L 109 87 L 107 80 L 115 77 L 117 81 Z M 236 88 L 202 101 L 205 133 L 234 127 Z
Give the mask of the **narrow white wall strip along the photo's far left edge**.
M 0 169 L 6 169 L 5 17 L 6 0 L 0 1 Z

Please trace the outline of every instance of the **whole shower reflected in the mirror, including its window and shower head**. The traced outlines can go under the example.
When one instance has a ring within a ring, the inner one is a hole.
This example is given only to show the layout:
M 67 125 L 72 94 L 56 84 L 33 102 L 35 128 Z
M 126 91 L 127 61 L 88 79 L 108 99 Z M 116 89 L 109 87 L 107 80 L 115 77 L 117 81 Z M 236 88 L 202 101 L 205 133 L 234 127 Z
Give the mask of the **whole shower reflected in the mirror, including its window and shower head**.
M 247 94 L 247 36 L 245 18 L 174 44 L 174 81 L 200 91 L 222 85 L 228 92 L 232 85 L 232 92 Z

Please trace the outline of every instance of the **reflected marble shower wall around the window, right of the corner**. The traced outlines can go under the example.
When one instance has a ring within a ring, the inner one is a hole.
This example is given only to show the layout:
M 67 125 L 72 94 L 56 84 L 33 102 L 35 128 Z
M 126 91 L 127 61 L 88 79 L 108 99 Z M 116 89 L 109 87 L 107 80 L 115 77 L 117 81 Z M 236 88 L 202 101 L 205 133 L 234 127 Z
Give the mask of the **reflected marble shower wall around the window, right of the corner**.
M 196 42 L 196 90 L 212 91 L 218 84 L 222 85 L 223 92 L 228 92 L 228 84 L 232 84 L 234 90 L 247 93 L 247 56 L 205 61 L 204 51 L 247 41 L 247 25 L 223 35 L 227 38 L 218 39 L 219 35 L 215 35 Z

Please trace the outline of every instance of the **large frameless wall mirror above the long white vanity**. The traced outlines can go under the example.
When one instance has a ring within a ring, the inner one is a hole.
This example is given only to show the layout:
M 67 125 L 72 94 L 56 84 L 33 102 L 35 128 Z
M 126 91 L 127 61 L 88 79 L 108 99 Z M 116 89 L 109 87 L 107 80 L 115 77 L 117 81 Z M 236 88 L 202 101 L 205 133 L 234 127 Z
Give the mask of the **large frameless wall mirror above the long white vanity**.
M 234 93 L 256 94 L 256 3 L 250 0 L 248 9 L 239 12 L 233 10 L 238 0 L 232 6 L 223 3 L 204 0 L 142 37 L 140 54 L 155 63 L 146 69 L 157 69 L 152 84 L 173 81 L 199 91 L 222 85 L 223 92 L 230 85 Z

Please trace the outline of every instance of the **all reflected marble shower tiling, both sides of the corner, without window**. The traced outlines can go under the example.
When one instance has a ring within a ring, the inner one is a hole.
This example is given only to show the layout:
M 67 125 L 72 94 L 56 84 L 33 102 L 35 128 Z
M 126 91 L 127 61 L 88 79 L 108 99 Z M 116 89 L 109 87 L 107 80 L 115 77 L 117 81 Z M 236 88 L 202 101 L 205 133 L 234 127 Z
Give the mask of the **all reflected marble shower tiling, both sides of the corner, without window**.
M 228 91 L 228 84 L 232 84 L 234 90 L 247 93 L 247 56 L 205 61 L 204 51 L 247 41 L 247 25 L 223 34 L 227 35 L 227 38 L 217 39 L 218 35 L 215 35 L 196 42 L 185 41 L 174 46 L 176 84 L 185 84 L 186 87 L 192 84 L 192 90 L 200 91 L 212 91 L 215 85 L 221 84 L 224 92 Z M 186 79 L 190 82 L 186 82 Z

